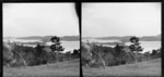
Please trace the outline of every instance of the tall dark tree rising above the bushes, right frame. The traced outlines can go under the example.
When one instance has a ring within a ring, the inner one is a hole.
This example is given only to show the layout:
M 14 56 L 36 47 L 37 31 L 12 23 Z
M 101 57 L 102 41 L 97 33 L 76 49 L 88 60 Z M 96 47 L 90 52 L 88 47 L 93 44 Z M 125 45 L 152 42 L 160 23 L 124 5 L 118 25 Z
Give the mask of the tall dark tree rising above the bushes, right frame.
M 136 62 L 137 62 L 138 52 L 141 52 L 143 50 L 143 48 L 140 46 L 139 38 L 136 36 L 130 38 L 130 42 L 132 44 L 130 44 L 129 49 L 136 53 Z

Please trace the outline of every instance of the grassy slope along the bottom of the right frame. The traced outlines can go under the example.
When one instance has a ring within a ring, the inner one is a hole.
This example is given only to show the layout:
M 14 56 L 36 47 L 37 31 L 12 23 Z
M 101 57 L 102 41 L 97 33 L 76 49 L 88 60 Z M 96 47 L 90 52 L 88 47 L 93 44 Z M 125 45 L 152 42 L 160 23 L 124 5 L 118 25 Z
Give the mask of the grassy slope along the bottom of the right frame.
M 140 62 L 136 64 L 127 64 L 119 66 L 110 66 L 104 68 L 90 68 L 83 66 L 84 77 L 161 77 L 161 59 Z

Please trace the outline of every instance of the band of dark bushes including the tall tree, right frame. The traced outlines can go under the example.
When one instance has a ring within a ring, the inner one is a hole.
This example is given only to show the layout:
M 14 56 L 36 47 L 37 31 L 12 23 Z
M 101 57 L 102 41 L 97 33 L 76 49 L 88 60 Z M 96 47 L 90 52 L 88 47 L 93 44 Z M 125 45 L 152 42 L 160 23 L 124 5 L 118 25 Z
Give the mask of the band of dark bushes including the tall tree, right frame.
M 132 37 L 131 46 L 119 46 L 115 48 L 97 46 L 95 43 L 82 43 L 82 65 L 90 67 L 116 66 L 138 63 L 161 57 L 161 49 L 152 50 L 152 53 L 139 53 L 139 38 Z

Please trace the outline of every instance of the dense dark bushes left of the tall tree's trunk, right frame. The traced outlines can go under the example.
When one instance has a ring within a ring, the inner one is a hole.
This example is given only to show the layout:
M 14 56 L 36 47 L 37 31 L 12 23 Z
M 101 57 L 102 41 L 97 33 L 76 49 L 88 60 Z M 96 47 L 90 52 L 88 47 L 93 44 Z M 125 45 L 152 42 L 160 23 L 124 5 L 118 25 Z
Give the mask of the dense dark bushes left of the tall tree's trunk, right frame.
M 92 59 L 95 59 L 95 63 L 92 63 L 91 66 L 99 67 L 103 65 L 99 55 L 105 61 L 106 66 L 133 63 L 134 62 L 134 53 L 133 52 L 128 53 L 128 52 L 121 50 L 122 48 L 125 48 L 125 47 L 116 46 L 115 48 L 110 48 L 110 47 L 102 47 L 102 46 L 94 44 L 93 50 L 91 51 L 91 53 L 92 53 L 92 56 L 91 56 L 91 55 L 86 55 L 87 54 L 86 49 L 82 47 L 82 56 L 83 56 L 82 64 L 85 65 Z M 142 57 L 139 57 L 138 61 L 141 62 Z

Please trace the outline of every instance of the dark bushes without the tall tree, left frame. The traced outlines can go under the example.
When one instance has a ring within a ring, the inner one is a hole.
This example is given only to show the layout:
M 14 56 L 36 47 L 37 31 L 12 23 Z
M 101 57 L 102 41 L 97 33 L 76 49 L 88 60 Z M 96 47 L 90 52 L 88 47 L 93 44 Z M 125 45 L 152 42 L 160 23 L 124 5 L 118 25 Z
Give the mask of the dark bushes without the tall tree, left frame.
M 13 46 L 14 48 L 12 48 L 12 51 L 10 52 L 8 48 L 7 49 L 4 48 L 3 52 L 5 53 L 3 54 L 7 55 L 8 57 L 3 57 L 3 65 L 10 63 L 10 66 L 17 67 L 24 66 L 26 63 L 27 66 L 34 66 L 47 63 L 55 63 L 57 61 L 56 53 L 45 50 L 45 48 L 49 48 L 47 46 L 37 44 L 35 48 L 17 44 Z M 11 55 L 11 53 L 13 53 L 13 56 L 10 56 L 9 59 L 9 55 Z M 78 50 L 74 50 L 73 55 L 71 55 L 71 53 L 68 52 L 59 53 L 59 62 L 78 59 L 79 57 L 78 55 L 79 55 Z M 15 62 L 13 62 L 14 60 Z

